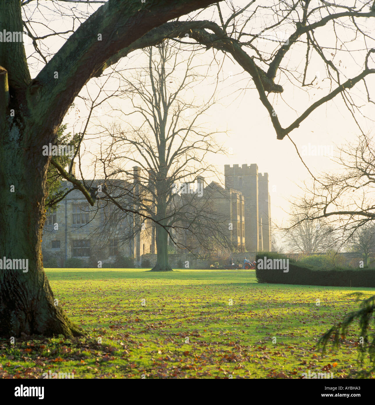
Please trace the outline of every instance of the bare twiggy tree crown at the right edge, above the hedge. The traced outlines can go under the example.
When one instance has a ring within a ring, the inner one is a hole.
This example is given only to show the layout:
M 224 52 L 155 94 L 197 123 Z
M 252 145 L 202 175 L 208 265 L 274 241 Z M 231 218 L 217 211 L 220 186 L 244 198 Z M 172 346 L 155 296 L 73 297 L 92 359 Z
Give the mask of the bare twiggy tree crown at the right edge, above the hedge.
M 305 182 L 306 194 L 294 209 L 308 213 L 302 221 L 329 220 L 337 238 L 340 235 L 337 243 L 343 246 L 351 243 L 359 228 L 371 229 L 375 220 L 375 145 L 368 135 L 361 135 L 357 143 L 339 151 L 339 157 L 332 158 L 337 171 L 315 177 L 312 185 Z

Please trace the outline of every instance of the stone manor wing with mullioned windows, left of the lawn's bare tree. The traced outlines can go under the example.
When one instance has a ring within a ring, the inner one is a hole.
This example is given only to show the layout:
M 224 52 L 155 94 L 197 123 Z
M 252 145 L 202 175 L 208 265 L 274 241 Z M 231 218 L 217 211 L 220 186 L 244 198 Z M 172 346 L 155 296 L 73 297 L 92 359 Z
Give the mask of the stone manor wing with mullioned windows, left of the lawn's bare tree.
M 104 181 L 87 183 L 97 189 Z M 68 182 L 63 182 L 62 186 L 72 188 Z M 104 238 L 104 232 L 108 234 L 109 216 L 100 198 L 91 207 L 79 190 L 72 190 L 55 211 L 47 212 L 43 229 L 43 255 L 56 257 L 60 266 L 64 266 L 68 258 L 110 262 L 117 255 L 133 257 L 140 264 L 142 254 L 156 252 L 155 226 L 152 222 L 146 220 L 141 223 L 138 216 L 130 214 L 121 226 L 113 226 L 110 237 Z M 125 238 L 129 232 L 132 236 Z

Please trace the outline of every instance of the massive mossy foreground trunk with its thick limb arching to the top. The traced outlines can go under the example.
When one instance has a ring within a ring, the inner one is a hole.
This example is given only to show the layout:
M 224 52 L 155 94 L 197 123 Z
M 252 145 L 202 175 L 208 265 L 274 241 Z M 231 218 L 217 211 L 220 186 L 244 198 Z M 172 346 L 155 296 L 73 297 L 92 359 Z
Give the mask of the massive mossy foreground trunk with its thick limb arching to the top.
M 27 272 L 0 269 L 0 337 L 82 333 L 55 305 L 43 271 L 41 239 L 50 158 L 42 156 L 42 147 L 55 141 L 74 98 L 109 58 L 155 26 L 212 3 L 109 0 L 81 24 L 34 80 L 23 43 L 0 42 L 0 258 L 28 260 Z M 0 2 L 0 26 L 23 31 L 19 0 Z

